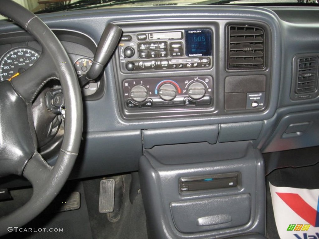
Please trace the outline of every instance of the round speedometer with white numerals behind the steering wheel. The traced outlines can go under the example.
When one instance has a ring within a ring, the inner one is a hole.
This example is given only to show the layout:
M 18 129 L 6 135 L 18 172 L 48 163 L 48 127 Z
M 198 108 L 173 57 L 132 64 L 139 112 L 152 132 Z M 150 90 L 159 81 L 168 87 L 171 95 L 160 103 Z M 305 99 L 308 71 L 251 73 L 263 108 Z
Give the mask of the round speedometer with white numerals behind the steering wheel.
M 37 52 L 28 47 L 11 49 L 1 58 L 0 81 L 10 81 L 32 66 L 39 57 L 40 55 Z

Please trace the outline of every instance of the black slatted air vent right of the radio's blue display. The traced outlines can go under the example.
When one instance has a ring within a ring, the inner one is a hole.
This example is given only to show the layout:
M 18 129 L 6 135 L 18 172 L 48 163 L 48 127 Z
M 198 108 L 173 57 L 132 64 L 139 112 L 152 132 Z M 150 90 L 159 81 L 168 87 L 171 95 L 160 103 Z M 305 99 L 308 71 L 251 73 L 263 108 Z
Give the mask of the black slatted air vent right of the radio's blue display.
M 255 26 L 229 26 L 228 69 L 262 69 L 265 34 Z

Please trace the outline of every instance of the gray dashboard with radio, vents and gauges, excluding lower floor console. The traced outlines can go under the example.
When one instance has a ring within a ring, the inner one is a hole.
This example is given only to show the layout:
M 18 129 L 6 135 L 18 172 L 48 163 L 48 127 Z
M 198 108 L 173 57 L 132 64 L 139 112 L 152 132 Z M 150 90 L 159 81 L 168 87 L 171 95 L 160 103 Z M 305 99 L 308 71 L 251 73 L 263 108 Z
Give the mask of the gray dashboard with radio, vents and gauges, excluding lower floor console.
M 72 177 L 135 171 L 144 148 L 156 145 L 251 141 L 264 153 L 319 145 L 316 13 L 227 5 L 39 15 L 79 76 L 105 25 L 123 30 L 101 76 L 83 88 L 84 140 Z M 1 80 L 40 55 L 32 36 L 1 21 Z

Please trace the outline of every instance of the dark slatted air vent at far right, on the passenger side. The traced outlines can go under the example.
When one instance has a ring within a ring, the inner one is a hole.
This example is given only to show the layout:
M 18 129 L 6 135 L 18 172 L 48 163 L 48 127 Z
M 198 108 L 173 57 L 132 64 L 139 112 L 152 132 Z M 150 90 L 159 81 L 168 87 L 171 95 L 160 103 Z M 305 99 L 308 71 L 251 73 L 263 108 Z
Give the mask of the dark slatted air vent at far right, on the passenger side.
M 297 94 L 315 92 L 318 83 L 318 57 L 299 58 Z

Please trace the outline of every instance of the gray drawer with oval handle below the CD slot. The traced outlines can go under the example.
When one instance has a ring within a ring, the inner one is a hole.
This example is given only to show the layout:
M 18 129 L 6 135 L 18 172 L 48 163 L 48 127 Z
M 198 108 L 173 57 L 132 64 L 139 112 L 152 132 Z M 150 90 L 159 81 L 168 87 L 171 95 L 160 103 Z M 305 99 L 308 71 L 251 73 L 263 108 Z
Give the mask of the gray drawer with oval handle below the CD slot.
M 180 232 L 231 228 L 249 221 L 250 194 L 172 202 L 170 208 Z

